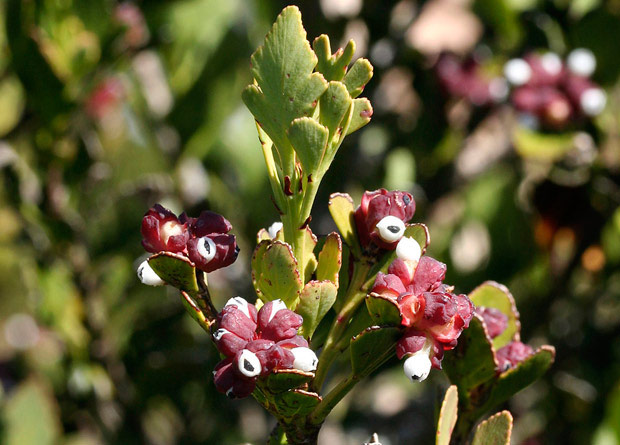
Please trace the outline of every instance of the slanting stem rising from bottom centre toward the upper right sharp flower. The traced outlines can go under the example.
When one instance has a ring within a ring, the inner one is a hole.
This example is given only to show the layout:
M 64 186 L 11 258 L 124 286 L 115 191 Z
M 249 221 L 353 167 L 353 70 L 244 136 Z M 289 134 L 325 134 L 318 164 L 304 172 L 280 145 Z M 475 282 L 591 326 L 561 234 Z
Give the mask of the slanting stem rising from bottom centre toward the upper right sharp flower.
M 314 387 L 318 390 L 323 386 L 327 371 L 331 364 L 339 355 L 337 344 L 347 329 L 351 316 L 366 296 L 367 275 L 370 271 L 371 264 L 368 261 L 355 263 L 353 268 L 353 276 L 349 283 L 349 288 L 345 296 L 345 303 L 340 312 L 336 315 L 332 327 L 325 340 L 325 346 L 321 352 L 319 366 L 316 370 L 314 378 Z

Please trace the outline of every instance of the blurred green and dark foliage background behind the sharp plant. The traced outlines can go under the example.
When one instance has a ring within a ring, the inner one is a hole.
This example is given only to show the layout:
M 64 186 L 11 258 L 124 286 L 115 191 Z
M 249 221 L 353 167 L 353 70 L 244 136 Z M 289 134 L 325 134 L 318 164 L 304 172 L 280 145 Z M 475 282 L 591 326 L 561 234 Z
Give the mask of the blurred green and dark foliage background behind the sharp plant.
M 331 192 L 412 191 L 447 282 L 508 285 L 524 340 L 557 348 L 545 378 L 507 404 L 514 443 L 620 443 L 620 1 L 292 3 L 310 39 L 354 38 L 375 66 L 372 122 L 341 148 L 313 230 L 333 228 Z M 264 442 L 273 420 L 215 391 L 215 348 L 175 291 L 141 285 L 135 268 L 153 203 L 212 209 L 242 249 L 210 277 L 216 303 L 254 298 L 255 234 L 277 213 L 240 93 L 285 5 L 0 2 L 0 443 Z M 442 51 L 501 66 L 577 47 L 596 55 L 608 105 L 568 135 L 566 156 L 536 155 L 566 140 L 558 132 L 515 151 L 510 106 L 450 98 L 433 69 Z M 394 360 L 343 401 L 321 441 L 376 431 L 384 445 L 431 443 L 446 384 L 433 372 L 412 386 Z

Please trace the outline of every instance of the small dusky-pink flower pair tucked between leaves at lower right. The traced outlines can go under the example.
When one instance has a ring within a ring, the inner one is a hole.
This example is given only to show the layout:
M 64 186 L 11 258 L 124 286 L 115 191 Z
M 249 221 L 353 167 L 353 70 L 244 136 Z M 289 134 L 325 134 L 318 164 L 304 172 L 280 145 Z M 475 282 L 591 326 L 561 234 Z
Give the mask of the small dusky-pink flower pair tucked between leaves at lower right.
M 476 313 L 482 317 L 487 334 L 491 339 L 501 335 L 508 327 L 508 317 L 499 309 L 490 307 L 477 307 Z M 495 353 L 497 359 L 498 371 L 504 372 L 519 362 L 525 360 L 534 352 L 531 346 L 521 343 L 518 340 L 508 343 Z

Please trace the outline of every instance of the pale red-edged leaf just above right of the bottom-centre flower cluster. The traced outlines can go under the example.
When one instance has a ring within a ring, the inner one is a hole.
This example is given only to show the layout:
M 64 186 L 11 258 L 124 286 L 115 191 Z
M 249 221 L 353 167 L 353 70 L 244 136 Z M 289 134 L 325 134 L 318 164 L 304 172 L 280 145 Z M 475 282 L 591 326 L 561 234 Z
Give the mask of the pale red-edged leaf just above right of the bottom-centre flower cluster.
M 310 281 L 301 291 L 295 312 L 304 318 L 301 335 L 312 337 L 327 311 L 336 301 L 338 288 L 331 281 Z

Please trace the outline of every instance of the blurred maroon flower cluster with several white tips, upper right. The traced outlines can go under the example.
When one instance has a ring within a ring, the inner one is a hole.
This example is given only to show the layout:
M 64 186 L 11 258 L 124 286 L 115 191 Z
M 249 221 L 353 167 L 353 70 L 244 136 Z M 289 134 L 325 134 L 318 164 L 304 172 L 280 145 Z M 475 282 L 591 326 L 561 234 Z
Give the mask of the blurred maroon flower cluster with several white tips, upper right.
M 594 54 L 580 48 L 565 62 L 551 52 L 512 59 L 504 66 L 504 74 L 515 87 L 511 102 L 524 113 L 523 121 L 558 129 L 605 108 L 605 93 L 590 80 L 595 68 Z

